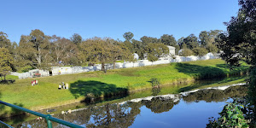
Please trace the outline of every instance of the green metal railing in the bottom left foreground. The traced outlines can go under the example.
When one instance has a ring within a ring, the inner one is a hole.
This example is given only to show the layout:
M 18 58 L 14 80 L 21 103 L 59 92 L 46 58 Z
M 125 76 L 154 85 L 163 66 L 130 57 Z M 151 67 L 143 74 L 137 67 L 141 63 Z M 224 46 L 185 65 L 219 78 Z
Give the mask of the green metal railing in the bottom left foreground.
M 52 117 L 52 116 L 49 115 L 49 114 L 43 114 L 43 113 L 34 112 L 34 111 L 32 111 L 32 110 L 29 110 L 29 109 L 26 109 L 26 108 L 21 108 L 21 107 L 19 107 L 19 106 L 16 106 L 16 105 L 14 105 L 14 104 L 10 104 L 10 103 L 8 103 L 8 102 L 2 102 L 2 101 L 0 101 L 0 103 L 3 104 L 3 105 L 9 106 L 9 107 L 11 107 L 11 108 L 19 109 L 20 111 L 24 111 L 24 112 L 26 112 L 26 113 L 32 113 L 32 114 L 34 114 L 34 115 L 37 115 L 37 116 L 39 116 L 39 117 L 42 117 L 42 118 L 46 119 L 48 128 L 52 128 L 51 121 L 57 122 L 57 123 L 62 124 L 62 125 L 67 125 L 67 126 L 73 127 L 73 128 L 83 128 L 83 127 L 80 126 L 80 125 L 75 125 L 75 124 L 72 124 L 72 123 L 70 123 L 70 122 L 67 122 L 67 121 L 64 121 L 64 120 L 61 120 L 61 119 L 54 118 L 54 117 Z M 0 121 L 0 123 L 3 124 L 3 125 L 6 125 L 6 126 L 12 128 L 11 125 L 5 124 L 3 121 Z

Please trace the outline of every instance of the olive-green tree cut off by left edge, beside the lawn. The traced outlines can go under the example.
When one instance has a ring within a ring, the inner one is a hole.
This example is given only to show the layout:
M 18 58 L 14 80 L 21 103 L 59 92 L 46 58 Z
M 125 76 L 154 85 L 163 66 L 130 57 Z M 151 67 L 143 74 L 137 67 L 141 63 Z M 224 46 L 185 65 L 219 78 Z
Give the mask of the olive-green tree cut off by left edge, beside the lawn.
M 9 50 L 5 48 L 0 48 L 0 74 L 1 76 L 5 76 L 12 71 L 12 67 L 14 64 L 14 58 L 9 54 Z

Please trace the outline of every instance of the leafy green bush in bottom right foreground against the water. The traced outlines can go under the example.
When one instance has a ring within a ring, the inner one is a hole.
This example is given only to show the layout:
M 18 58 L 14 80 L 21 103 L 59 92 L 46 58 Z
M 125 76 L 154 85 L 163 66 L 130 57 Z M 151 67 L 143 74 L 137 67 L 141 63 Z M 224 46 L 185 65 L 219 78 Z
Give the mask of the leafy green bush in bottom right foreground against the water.
M 224 106 L 219 115 L 221 116 L 217 120 L 209 120 L 207 128 L 217 128 L 217 127 L 239 127 L 245 128 L 248 127 L 247 120 L 243 117 L 241 108 L 244 108 L 242 105 L 238 105 L 236 102 L 229 103 Z

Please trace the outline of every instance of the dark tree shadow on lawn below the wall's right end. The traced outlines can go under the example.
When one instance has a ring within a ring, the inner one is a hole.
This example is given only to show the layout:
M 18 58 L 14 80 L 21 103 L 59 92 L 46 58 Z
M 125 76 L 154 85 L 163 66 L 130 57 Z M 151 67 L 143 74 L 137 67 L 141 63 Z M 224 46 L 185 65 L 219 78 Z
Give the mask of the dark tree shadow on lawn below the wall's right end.
M 195 79 L 224 78 L 226 74 L 223 70 L 216 67 L 201 67 L 187 63 L 177 63 L 178 72 L 188 74 Z

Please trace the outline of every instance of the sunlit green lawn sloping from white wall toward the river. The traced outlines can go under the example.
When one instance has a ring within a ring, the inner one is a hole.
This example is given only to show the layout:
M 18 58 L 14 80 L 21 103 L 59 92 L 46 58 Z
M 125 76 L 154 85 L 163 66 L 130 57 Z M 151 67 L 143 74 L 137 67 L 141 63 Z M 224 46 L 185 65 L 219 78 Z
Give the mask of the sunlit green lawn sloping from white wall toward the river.
M 32 110 L 50 108 L 79 102 L 87 94 L 113 96 L 126 91 L 151 88 L 150 79 L 160 79 L 161 84 L 173 84 L 211 79 L 247 70 L 246 65 L 230 71 L 222 60 L 189 61 L 148 67 L 133 67 L 90 73 L 76 73 L 38 78 L 38 85 L 31 86 L 32 79 L 18 79 L 15 84 L 1 84 L 0 99 Z M 58 90 L 61 82 L 70 85 L 69 90 Z M 10 108 L 3 108 L 10 112 Z

